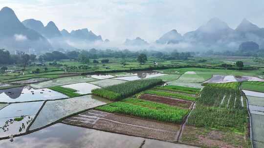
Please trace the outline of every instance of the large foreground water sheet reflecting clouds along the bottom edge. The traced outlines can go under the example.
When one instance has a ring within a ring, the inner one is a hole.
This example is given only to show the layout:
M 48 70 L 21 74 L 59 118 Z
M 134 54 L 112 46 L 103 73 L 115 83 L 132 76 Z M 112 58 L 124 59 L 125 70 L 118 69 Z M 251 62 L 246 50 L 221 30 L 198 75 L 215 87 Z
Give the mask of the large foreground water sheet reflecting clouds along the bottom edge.
M 58 123 L 51 127 L 15 137 L 13 142 L 0 140 L 2 148 L 197 148 L 157 140 L 126 136 Z

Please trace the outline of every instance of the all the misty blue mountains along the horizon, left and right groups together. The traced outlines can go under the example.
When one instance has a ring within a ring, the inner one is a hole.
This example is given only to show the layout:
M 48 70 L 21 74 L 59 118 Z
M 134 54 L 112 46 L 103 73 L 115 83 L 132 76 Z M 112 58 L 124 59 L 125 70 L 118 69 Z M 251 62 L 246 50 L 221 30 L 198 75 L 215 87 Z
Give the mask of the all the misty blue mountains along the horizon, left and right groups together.
M 197 30 L 187 32 L 184 35 L 176 30 L 169 31 L 158 38 L 154 43 L 148 43 L 140 37 L 126 39 L 125 46 L 150 47 L 155 49 L 155 45 L 166 48 L 187 48 L 187 50 L 228 50 L 238 49 L 242 42 L 254 41 L 264 48 L 264 28 L 243 19 L 236 29 L 232 29 L 228 24 L 218 18 L 210 19 Z M 48 51 L 58 48 L 75 49 L 78 45 L 91 47 L 93 43 L 104 44 L 110 42 L 109 39 L 103 41 L 100 35 L 95 35 L 87 28 L 72 30 L 59 30 L 53 21 L 46 26 L 36 19 L 26 19 L 20 21 L 14 11 L 8 7 L 0 10 L 0 48 L 8 50 L 35 50 Z M 188 45 L 181 47 L 180 45 Z M 102 46 L 106 47 L 106 46 Z M 147 48 L 146 48 L 147 49 Z

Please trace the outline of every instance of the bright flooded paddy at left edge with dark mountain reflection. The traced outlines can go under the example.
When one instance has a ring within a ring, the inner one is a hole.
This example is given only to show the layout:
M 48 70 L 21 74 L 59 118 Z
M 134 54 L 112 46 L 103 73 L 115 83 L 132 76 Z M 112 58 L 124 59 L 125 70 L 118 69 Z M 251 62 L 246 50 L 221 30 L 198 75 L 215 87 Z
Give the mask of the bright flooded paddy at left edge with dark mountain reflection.
M 50 89 L 33 89 L 31 87 L 17 87 L 0 90 L 0 102 L 26 102 L 49 99 L 67 98 L 65 94 L 52 91 Z

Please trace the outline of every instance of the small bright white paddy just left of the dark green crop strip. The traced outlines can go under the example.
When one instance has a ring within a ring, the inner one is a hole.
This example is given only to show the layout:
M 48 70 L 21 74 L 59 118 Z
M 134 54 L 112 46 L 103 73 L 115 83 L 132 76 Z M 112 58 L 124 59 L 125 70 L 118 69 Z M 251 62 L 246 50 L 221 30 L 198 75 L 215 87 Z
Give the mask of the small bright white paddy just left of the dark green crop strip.
M 96 85 L 89 84 L 86 82 L 63 85 L 62 87 L 74 89 L 77 91 L 77 93 L 80 93 L 80 94 L 88 94 L 88 93 L 91 93 L 92 90 L 100 88 Z

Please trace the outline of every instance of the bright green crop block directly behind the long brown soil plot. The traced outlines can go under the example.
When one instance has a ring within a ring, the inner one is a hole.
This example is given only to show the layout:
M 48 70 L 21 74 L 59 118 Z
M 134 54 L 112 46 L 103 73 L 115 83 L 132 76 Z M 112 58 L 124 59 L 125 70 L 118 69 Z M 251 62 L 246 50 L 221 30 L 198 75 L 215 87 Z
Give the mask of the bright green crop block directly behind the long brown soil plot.
M 96 109 L 176 124 L 182 123 L 184 116 L 188 113 L 186 109 L 179 109 L 166 104 L 136 98 L 128 98 L 119 102 L 113 102 L 97 107 Z

